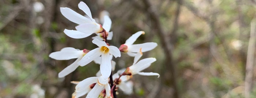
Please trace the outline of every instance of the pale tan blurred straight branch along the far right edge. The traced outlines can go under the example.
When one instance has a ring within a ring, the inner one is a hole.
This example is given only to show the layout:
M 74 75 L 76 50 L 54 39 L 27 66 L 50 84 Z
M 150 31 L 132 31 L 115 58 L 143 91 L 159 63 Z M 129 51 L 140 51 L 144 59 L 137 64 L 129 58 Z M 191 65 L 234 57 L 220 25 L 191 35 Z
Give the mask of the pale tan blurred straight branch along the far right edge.
M 247 60 L 246 60 L 246 74 L 245 74 L 245 98 L 250 98 L 250 93 L 252 91 L 252 82 L 253 82 L 253 61 L 254 61 L 254 52 L 256 44 L 256 19 L 251 22 L 251 37 L 249 38 L 249 45 L 247 51 Z

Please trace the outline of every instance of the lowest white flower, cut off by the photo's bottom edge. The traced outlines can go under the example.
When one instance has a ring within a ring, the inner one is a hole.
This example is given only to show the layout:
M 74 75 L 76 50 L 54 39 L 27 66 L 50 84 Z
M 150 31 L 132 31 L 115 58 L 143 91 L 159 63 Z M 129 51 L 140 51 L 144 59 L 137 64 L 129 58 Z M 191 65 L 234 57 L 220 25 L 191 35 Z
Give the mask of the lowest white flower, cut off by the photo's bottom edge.
M 95 85 L 92 88 L 93 84 Z M 81 97 L 88 92 L 89 93 L 86 98 L 98 98 L 99 94 L 102 90 L 104 90 L 104 88 L 106 90 L 106 97 L 111 98 L 111 88 L 108 84 L 108 78 L 104 79 L 102 76 L 86 78 L 75 86 L 75 98 Z

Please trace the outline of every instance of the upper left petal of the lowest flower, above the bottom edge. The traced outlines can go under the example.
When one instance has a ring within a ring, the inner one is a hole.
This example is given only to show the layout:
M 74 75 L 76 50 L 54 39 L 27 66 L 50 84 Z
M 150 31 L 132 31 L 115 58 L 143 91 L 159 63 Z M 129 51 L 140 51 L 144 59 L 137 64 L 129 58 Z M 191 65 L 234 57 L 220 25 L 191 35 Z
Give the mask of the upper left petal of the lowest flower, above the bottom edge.
M 90 85 L 93 83 L 97 83 L 98 77 L 90 77 L 90 78 L 86 78 L 84 80 L 82 80 L 81 82 L 79 82 L 77 84 L 77 86 L 75 86 L 75 91 L 78 92 L 82 92 L 84 90 L 90 90 Z

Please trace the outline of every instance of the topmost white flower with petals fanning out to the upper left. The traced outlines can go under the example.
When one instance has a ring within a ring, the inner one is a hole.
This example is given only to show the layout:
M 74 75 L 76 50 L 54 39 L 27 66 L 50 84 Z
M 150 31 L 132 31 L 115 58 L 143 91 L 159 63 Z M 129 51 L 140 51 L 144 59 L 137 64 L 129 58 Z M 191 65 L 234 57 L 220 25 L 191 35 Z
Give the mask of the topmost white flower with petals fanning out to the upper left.
M 61 7 L 60 12 L 63 16 L 65 16 L 71 22 L 79 24 L 79 26 L 75 27 L 77 30 L 64 30 L 64 33 L 71 38 L 85 38 L 93 33 L 101 33 L 104 29 L 103 27 L 108 28 L 108 26 L 101 26 L 97 23 L 93 18 L 89 7 L 84 3 L 80 2 L 78 4 L 78 8 L 85 12 L 86 16 L 82 16 L 77 12 L 71 10 L 67 7 Z M 108 17 L 108 16 L 106 16 Z M 109 18 L 109 17 L 108 17 Z M 111 23 L 105 23 L 111 24 Z

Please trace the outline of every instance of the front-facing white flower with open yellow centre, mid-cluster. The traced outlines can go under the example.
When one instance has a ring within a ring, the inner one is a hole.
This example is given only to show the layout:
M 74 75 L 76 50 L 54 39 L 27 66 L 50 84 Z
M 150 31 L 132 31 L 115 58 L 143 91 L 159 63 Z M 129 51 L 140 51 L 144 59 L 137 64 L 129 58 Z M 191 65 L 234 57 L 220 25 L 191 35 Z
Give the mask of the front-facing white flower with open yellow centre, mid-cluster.
M 77 64 L 80 66 L 85 66 L 97 57 L 101 56 L 101 63 L 100 63 L 100 72 L 104 78 L 108 78 L 111 73 L 111 55 L 115 57 L 120 57 L 120 51 L 115 46 L 108 46 L 104 41 L 99 41 L 98 39 L 93 39 L 93 44 L 99 46 L 99 48 L 93 49 L 85 56 L 78 61 Z

